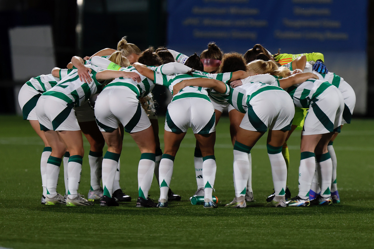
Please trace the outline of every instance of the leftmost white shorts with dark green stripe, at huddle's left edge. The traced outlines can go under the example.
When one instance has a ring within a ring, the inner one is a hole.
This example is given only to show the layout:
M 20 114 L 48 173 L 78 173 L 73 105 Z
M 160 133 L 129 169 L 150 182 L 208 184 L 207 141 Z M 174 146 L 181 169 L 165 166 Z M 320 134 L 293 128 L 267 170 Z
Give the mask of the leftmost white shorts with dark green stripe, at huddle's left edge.
M 18 94 L 18 103 L 24 120 L 38 120 L 35 107 L 40 96 L 42 96 L 42 93 L 27 84 L 21 87 Z

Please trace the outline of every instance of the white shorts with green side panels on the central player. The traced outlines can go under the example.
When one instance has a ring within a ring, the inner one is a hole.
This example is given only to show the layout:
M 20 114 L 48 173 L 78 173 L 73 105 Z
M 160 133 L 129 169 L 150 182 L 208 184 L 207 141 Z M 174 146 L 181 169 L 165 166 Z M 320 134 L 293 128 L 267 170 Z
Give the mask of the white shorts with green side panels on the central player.
M 171 102 L 166 112 L 165 130 L 209 134 L 215 131 L 215 113 L 211 102 L 202 98 L 181 98 Z

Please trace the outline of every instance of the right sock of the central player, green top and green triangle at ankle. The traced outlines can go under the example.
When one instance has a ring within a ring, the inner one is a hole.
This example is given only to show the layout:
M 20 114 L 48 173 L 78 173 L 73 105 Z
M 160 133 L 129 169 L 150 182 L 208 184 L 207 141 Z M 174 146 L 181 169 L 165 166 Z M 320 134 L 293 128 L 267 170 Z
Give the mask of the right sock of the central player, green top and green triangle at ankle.
M 217 165 L 214 156 L 203 157 L 204 202 L 211 202 Z

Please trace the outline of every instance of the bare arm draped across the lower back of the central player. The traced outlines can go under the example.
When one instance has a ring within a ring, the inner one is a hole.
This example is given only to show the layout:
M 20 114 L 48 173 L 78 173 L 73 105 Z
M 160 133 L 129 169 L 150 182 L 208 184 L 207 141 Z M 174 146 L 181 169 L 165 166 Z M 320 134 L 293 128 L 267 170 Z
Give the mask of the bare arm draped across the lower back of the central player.
M 177 94 L 186 86 L 200 86 L 205 88 L 213 88 L 218 93 L 226 93 L 228 90 L 228 85 L 221 82 L 220 80 L 215 80 L 211 78 L 195 78 L 189 80 L 182 80 L 173 86 L 173 95 Z

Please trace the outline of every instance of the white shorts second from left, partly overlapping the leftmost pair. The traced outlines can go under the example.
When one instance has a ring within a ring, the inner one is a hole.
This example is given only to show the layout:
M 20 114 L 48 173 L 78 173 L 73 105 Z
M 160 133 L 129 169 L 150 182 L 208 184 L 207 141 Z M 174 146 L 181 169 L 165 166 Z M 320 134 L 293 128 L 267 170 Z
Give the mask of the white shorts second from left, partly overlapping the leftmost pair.
M 40 96 L 36 116 L 40 130 L 80 130 L 73 106 L 54 96 Z

